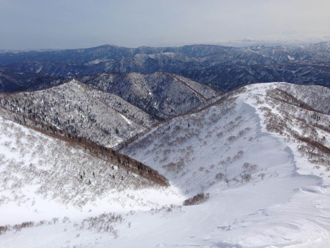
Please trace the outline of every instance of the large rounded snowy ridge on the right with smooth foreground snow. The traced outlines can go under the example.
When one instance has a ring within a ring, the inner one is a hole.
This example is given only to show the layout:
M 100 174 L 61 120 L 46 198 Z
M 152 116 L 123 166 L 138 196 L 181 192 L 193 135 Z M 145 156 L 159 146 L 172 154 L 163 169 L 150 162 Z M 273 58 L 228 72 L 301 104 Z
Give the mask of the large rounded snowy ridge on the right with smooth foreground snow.
M 56 223 L 11 230 L 0 239 L 7 247 L 328 247 L 330 116 L 322 113 L 328 108 L 313 108 L 314 97 L 290 87 L 239 88 L 121 149 L 171 186 L 155 200 L 167 207 L 129 212 L 123 206 L 117 235 Z M 200 192 L 208 201 L 170 206 Z

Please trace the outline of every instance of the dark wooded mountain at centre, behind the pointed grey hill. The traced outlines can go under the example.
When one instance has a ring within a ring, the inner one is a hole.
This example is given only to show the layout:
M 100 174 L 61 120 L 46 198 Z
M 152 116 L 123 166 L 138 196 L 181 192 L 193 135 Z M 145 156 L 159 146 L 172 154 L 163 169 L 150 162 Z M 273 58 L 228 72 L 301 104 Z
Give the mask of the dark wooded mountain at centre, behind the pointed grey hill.
M 182 114 L 219 91 L 172 73 L 103 73 L 78 77 L 83 83 L 113 93 L 161 119 Z

